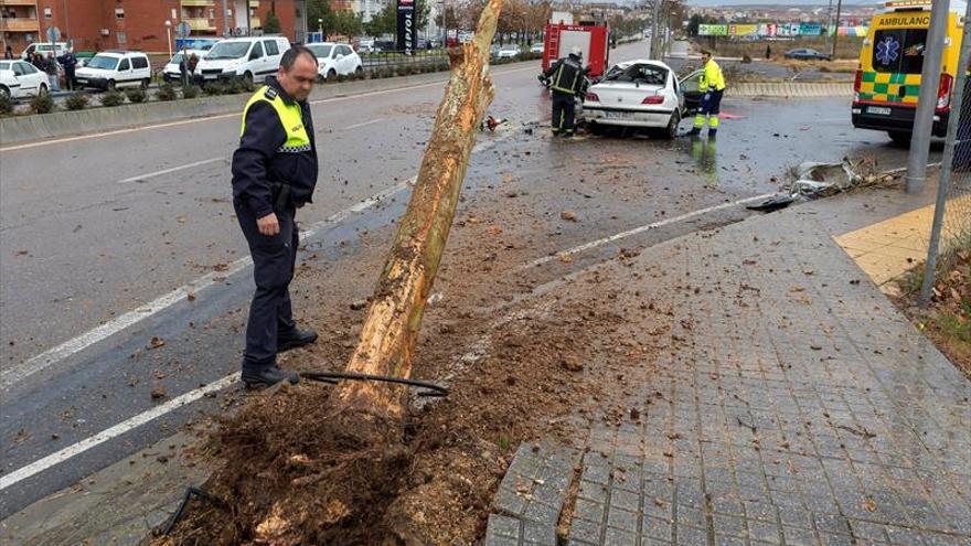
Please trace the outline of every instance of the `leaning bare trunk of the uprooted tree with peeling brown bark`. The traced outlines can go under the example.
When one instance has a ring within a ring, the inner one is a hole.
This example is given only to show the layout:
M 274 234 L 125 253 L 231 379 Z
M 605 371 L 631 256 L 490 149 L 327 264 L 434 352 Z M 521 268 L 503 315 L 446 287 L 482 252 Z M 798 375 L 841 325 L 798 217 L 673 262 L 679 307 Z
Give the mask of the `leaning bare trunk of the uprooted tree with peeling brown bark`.
M 438 107 L 415 189 L 377 281 L 348 372 L 410 377 L 412 358 L 441 253 L 455 217 L 476 133 L 492 101 L 490 43 L 503 0 L 489 0 L 472 42 L 449 51 L 451 78 Z M 344 408 L 399 417 L 402 386 L 344 382 Z

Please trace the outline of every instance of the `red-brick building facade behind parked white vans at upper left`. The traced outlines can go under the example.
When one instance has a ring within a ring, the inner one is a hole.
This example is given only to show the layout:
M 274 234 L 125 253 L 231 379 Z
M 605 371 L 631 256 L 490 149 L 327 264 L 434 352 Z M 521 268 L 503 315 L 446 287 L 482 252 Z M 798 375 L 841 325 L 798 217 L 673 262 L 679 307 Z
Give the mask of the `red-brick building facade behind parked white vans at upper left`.
M 259 34 L 269 13 L 284 35 L 303 40 L 303 0 L 0 0 L 0 47 L 20 53 L 53 26 L 77 51 L 166 53 L 179 23 L 201 38 Z

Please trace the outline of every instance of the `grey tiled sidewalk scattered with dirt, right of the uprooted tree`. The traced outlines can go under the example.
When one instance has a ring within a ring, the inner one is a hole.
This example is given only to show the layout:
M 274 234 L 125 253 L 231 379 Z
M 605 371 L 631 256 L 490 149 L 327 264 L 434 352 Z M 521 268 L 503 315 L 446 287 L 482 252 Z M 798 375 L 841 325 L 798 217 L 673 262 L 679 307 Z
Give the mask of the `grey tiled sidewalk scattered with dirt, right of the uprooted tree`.
M 637 418 L 579 439 L 569 544 L 971 545 L 971 383 L 831 238 L 905 210 L 837 197 L 604 266 L 684 343 L 626 375 Z M 556 544 L 525 496 L 487 544 Z

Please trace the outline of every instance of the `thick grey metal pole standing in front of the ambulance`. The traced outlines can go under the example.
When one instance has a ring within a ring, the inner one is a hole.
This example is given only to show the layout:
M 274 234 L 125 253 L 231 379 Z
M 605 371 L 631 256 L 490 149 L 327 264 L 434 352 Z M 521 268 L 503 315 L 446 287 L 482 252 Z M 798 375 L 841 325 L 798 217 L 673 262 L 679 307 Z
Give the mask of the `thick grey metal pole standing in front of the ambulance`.
M 910 154 L 907 157 L 907 193 L 920 193 L 927 182 L 927 156 L 930 151 L 930 132 L 940 85 L 941 57 L 948 25 L 949 0 L 933 0 L 930 12 L 930 30 L 920 71 L 920 93 L 914 116 Z

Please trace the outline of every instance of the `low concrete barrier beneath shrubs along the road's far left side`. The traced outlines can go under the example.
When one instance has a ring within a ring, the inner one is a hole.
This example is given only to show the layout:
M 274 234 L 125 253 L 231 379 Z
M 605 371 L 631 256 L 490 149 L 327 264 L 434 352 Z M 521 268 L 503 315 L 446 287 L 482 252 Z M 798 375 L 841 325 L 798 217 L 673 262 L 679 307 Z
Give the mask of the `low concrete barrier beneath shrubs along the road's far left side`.
M 314 89 L 310 100 L 439 82 L 444 84 L 448 81 L 448 77 L 449 73 L 438 72 L 395 78 L 359 79 L 339 84 L 323 84 Z M 244 93 L 166 103 L 151 101 L 115 107 L 93 107 L 84 110 L 63 110 L 42 115 L 11 116 L 0 118 L 0 146 L 232 114 L 242 111 L 248 98 L 249 94 Z

